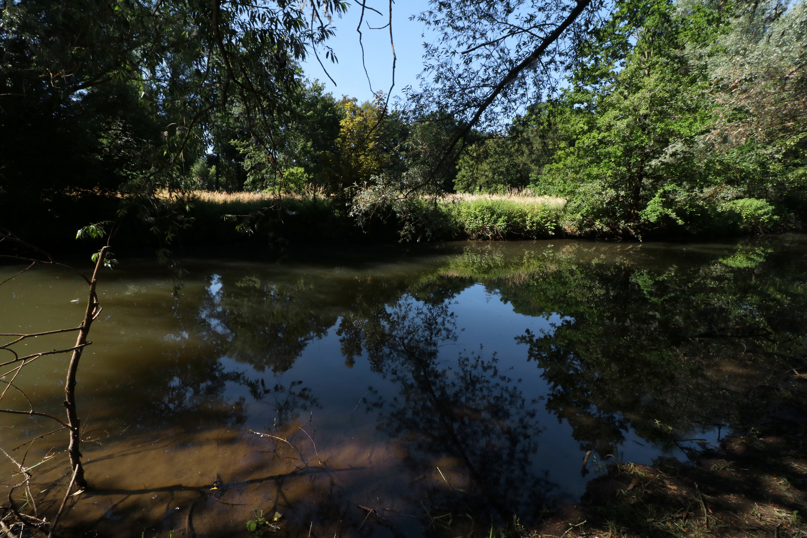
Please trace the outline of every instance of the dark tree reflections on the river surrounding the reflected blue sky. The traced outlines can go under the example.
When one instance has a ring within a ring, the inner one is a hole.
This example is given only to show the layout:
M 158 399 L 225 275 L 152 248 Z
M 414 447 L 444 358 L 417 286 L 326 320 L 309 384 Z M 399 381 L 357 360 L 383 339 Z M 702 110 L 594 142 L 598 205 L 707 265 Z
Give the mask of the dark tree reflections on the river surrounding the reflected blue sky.
M 667 251 L 470 245 L 406 277 L 339 284 L 214 277 L 193 319 L 183 321 L 202 336 L 204 352 L 193 365 L 171 366 L 174 380 L 153 389 L 161 393 L 155 401 L 176 414 L 223 398 L 235 382 L 291 423 L 323 395 L 278 376 L 337 327 L 345 365 L 369 361 L 395 386 L 366 402 L 401 448 L 413 500 L 529 519 L 554 490 L 535 461 L 545 411 L 600 457 L 630 428 L 669 446 L 713 427 L 773 421 L 786 429 L 794 415 L 772 407 L 771 379 L 805 365 L 803 261 L 801 244 L 787 239 Z M 525 398 L 521 383 L 500 371 L 495 349 L 446 351 L 462 330 L 454 298 L 476 282 L 517 313 L 560 316 L 552 330 L 512 335 L 546 380 L 545 399 Z M 341 287 L 324 301 L 328 285 Z M 270 370 L 274 380 L 229 371 L 220 357 Z M 227 413 L 243 420 L 237 406 Z

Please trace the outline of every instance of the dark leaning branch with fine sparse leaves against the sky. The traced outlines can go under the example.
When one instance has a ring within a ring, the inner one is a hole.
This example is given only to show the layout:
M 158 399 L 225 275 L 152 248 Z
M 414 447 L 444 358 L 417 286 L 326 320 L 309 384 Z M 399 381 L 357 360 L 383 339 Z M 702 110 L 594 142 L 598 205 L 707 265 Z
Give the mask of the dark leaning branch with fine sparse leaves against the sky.
M 557 74 L 600 18 L 603 1 L 431 0 L 429 6 L 416 19 L 440 37 L 424 45 L 424 82 L 408 91 L 408 106 L 413 118 L 447 116 L 456 129 L 428 169 L 366 187 L 354 214 L 388 204 L 407 211 L 412 204 L 402 200 L 433 193 L 445 162 L 458 157 L 455 148 L 472 129 L 502 127 L 503 119 L 556 87 Z

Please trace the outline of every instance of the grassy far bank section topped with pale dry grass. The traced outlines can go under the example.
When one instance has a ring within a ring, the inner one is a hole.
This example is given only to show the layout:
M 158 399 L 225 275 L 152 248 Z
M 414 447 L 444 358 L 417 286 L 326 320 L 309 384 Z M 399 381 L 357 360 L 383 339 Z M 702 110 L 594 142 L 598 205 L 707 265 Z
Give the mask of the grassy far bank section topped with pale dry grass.
M 412 203 L 408 222 L 385 208 L 362 223 L 337 198 L 305 195 L 196 191 L 190 194 L 196 224 L 211 233 L 217 224 L 267 231 L 289 239 L 525 240 L 569 235 L 562 226 L 562 198 L 525 192 L 508 195 L 449 194 Z

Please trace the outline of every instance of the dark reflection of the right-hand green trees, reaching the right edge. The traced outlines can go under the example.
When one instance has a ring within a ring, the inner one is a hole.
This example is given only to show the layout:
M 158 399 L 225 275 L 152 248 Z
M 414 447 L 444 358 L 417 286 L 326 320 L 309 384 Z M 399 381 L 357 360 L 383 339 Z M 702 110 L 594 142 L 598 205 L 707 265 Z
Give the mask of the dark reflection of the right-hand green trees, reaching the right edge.
M 523 256 L 487 247 L 444 270 L 484 282 L 521 314 L 562 317 L 517 340 L 550 385 L 546 410 L 604 458 L 630 427 L 669 447 L 714 427 L 792 425 L 792 410 L 771 410 L 778 395 L 768 383 L 805 365 L 803 258 L 787 247 L 761 240 L 726 256 L 671 257 L 638 245 L 573 243 Z

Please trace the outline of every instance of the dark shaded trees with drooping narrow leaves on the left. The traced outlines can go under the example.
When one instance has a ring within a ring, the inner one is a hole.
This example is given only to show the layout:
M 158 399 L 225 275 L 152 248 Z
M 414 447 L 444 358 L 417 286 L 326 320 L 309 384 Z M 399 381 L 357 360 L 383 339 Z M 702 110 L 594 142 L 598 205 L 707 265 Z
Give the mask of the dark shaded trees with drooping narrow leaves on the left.
M 214 122 L 240 108 L 245 131 L 274 151 L 270 126 L 286 124 L 301 84 L 295 62 L 332 35 L 329 17 L 346 5 L 21 0 L 2 9 L 0 144 L 19 150 L 0 157 L 3 200 L 19 206 L 22 186 L 49 199 L 123 183 L 128 207 L 165 240 L 174 232 L 162 223 L 178 222 L 175 194 L 195 185 L 190 167 L 215 141 Z M 41 154 L 44 166 L 32 166 Z

